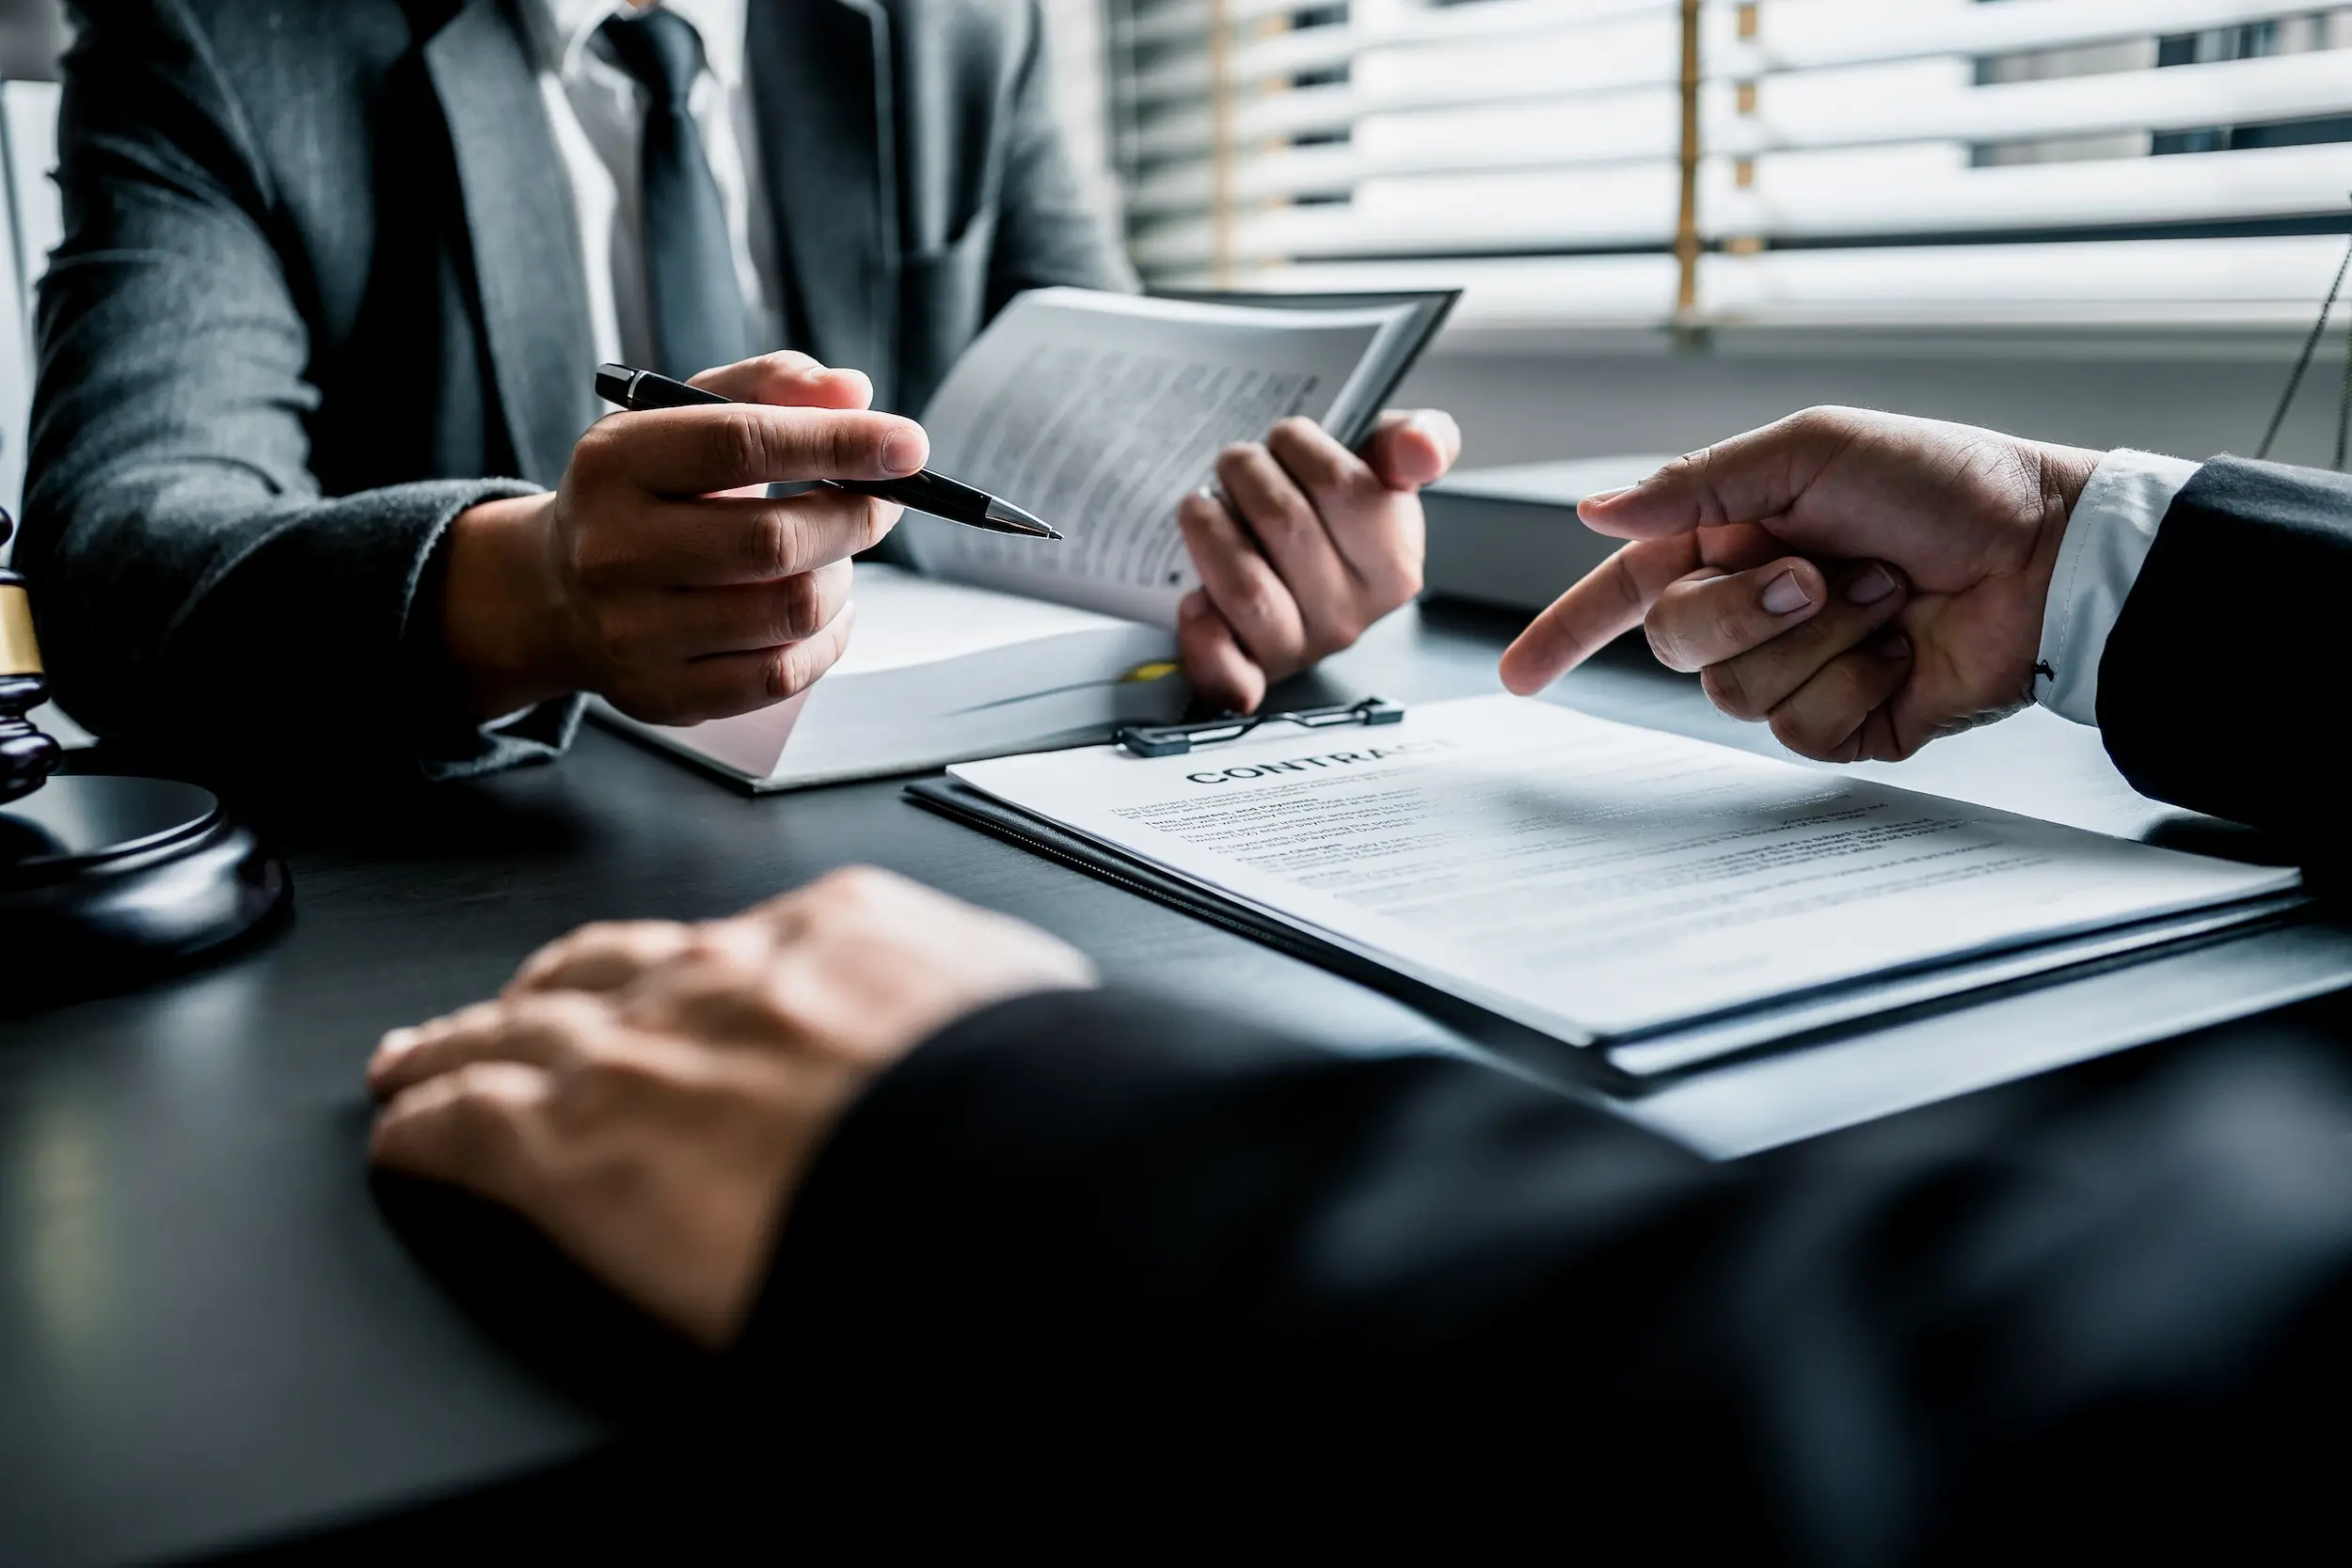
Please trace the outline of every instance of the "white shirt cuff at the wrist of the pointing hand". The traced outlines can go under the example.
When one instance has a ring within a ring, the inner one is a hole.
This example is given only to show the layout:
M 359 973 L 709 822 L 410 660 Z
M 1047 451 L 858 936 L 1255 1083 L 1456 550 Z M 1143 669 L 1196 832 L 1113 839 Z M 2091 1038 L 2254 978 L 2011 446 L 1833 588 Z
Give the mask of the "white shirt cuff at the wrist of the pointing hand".
M 2051 712 L 2098 724 L 2098 661 L 2107 654 L 2107 632 L 2140 581 L 2164 512 L 2199 468 L 2204 463 L 2119 449 L 2091 470 L 2042 607 L 2034 693 Z

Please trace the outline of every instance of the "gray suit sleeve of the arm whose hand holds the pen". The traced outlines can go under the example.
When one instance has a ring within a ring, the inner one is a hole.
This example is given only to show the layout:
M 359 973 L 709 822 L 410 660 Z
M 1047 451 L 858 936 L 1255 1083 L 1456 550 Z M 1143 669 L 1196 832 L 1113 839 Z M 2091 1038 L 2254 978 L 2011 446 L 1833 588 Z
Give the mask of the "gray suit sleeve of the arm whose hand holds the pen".
M 205 38 L 169 0 L 94 2 L 64 75 L 16 562 L 61 705 L 101 736 L 242 757 L 550 755 L 562 705 L 508 736 L 454 717 L 419 595 L 452 517 L 532 487 L 322 496 L 301 282 Z

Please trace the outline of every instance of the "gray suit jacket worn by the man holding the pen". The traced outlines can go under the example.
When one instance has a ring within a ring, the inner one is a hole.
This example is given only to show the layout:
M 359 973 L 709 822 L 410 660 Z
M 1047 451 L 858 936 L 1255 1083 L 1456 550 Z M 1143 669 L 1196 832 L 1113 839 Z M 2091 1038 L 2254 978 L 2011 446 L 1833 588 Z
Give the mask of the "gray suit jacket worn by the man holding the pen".
M 569 186 L 508 0 L 82 0 L 16 567 L 103 736 L 463 773 L 435 543 L 597 416 Z M 1033 0 L 755 0 L 793 346 L 920 411 L 1016 292 L 1131 287 Z

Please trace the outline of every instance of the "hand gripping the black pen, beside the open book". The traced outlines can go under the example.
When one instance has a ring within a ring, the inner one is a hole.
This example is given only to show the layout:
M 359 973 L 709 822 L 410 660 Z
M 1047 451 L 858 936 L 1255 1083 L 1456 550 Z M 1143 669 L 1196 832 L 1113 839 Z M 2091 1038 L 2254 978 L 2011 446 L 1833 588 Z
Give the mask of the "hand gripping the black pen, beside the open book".
M 741 407 L 602 418 L 550 491 L 466 508 L 435 555 L 449 663 L 477 719 L 595 691 L 654 724 L 767 708 L 849 642 L 849 557 L 889 501 L 776 482 L 906 480 L 922 425 L 866 404 L 858 371 L 779 353 L 703 376 Z M 426 595 L 433 578 L 426 578 Z

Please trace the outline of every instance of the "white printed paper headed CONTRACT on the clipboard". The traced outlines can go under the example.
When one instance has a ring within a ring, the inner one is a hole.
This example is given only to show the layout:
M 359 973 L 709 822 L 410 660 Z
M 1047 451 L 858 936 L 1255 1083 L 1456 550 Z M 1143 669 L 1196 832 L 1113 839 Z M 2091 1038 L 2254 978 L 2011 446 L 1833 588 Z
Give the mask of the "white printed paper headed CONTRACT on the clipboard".
M 2277 912 L 2300 886 L 1510 696 L 953 773 L 1555 1039 L 1708 1041 L 1684 1058 Z M 1724 1027 L 1757 1013 L 1776 1023 Z

